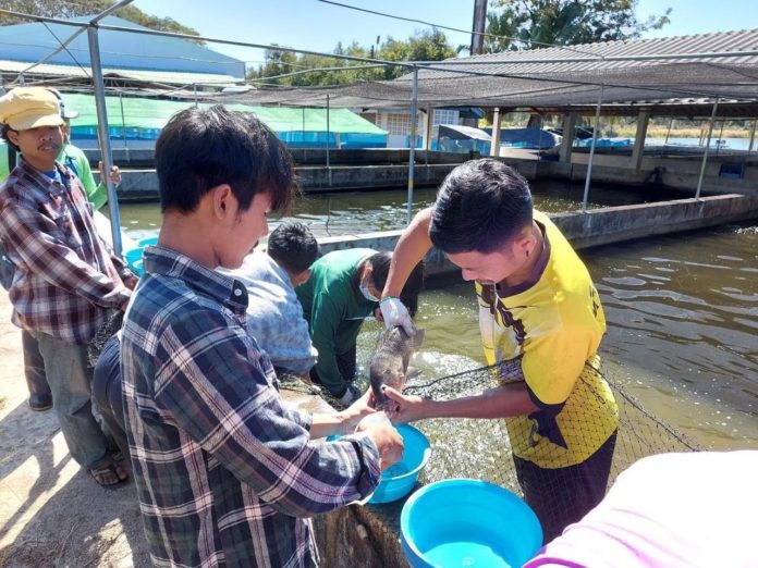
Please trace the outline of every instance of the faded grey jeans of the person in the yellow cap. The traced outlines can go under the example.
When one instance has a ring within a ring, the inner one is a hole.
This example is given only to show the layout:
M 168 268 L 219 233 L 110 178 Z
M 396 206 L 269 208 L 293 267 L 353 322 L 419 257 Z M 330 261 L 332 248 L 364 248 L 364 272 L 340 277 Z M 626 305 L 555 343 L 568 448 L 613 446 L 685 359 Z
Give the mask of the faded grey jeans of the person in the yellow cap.
M 68 343 L 46 333 L 32 334 L 39 343 L 53 408 L 69 452 L 81 466 L 91 469 L 106 457 L 108 440 L 93 416 L 87 346 Z

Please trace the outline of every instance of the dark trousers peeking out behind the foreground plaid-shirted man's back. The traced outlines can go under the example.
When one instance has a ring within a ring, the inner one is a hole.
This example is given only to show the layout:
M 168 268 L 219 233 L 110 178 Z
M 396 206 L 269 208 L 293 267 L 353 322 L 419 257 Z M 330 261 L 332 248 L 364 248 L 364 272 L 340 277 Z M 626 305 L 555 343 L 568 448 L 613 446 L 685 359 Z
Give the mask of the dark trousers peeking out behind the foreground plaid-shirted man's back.
M 106 342 L 93 372 L 93 403 L 102 416 L 108 433 L 129 458 L 124 425 L 124 405 L 121 399 L 121 342 L 112 335 Z

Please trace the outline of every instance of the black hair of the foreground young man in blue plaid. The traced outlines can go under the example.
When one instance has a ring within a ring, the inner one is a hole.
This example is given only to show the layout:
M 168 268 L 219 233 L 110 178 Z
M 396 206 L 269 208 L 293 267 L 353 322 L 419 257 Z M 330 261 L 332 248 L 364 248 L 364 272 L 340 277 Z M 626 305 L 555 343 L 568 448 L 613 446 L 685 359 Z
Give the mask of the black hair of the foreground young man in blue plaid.
M 229 184 L 246 211 L 268 193 L 271 209 L 289 210 L 294 186 L 292 157 L 253 114 L 217 104 L 174 114 L 156 143 L 162 212 L 193 212 L 213 187 Z

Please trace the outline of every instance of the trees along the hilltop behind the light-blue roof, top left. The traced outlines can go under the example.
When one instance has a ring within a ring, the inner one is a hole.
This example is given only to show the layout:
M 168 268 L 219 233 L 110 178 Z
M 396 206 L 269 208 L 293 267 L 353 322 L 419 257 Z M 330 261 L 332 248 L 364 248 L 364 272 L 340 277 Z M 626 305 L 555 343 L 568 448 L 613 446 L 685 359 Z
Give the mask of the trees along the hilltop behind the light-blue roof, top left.
M 13 12 L 34 14 L 46 17 L 76 17 L 93 15 L 107 10 L 115 2 L 113 0 L 3 0 L 3 8 Z M 176 34 L 199 35 L 197 30 L 183 26 L 171 17 L 157 17 L 146 14 L 138 8 L 126 5 L 119 9 L 115 15 L 159 32 L 173 32 Z M 27 20 L 0 14 L 0 25 L 24 24 Z M 199 42 L 199 41 L 198 41 Z

